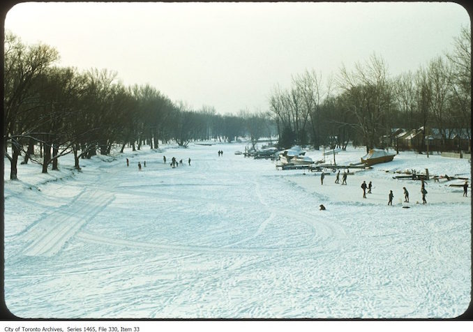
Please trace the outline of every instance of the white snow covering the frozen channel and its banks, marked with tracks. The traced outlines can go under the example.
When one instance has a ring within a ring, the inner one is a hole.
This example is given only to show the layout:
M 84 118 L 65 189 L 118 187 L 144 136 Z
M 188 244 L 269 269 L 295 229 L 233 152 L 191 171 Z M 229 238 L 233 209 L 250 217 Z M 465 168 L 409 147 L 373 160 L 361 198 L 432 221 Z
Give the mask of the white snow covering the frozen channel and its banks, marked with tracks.
M 18 165 L 20 181 L 5 160 L 8 309 L 86 319 L 446 318 L 467 309 L 471 191 L 429 181 L 428 204 L 416 204 L 420 183 L 393 172 L 471 179 L 468 160 L 402 152 L 350 174 L 347 186 L 334 173 L 322 186 L 320 173 L 234 155 L 244 147 L 145 146 L 81 160 L 82 172 L 66 156 L 49 174 Z M 336 162 L 364 154 L 350 148 Z M 173 156 L 184 165 L 170 167 Z M 366 199 L 363 181 L 373 181 Z

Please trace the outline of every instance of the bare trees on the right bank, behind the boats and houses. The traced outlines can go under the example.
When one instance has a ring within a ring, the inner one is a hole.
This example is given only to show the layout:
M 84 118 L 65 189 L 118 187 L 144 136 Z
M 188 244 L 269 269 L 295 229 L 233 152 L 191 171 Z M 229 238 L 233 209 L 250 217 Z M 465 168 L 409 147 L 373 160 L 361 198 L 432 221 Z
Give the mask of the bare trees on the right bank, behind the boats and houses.
M 354 70 L 322 84 L 315 70 L 292 77 L 290 89 L 276 86 L 269 114 L 282 146 L 310 144 L 384 148 L 393 145 L 394 128 L 422 128 L 416 149 L 426 150 L 424 137 L 434 131 L 439 149 L 448 149 L 452 133 L 462 133 L 471 150 L 471 36 L 461 29 L 453 52 L 437 56 L 424 68 L 390 77 L 382 58 L 373 54 Z M 454 130 L 452 130 L 454 129 Z M 384 137 L 384 139 L 383 139 Z M 386 139 L 387 138 L 387 139 Z

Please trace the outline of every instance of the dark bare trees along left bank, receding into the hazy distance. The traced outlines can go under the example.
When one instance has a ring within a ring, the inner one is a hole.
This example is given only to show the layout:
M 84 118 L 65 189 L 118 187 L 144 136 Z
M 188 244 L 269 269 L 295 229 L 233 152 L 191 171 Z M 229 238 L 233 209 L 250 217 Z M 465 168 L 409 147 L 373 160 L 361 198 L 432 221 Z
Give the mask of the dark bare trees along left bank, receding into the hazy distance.
M 10 179 L 17 179 L 17 162 L 29 160 L 58 169 L 58 158 L 107 155 L 112 146 L 140 149 L 159 142 L 187 146 L 193 140 L 232 142 L 239 136 L 257 140 L 274 135 L 264 114 L 240 111 L 216 114 L 213 107 L 191 110 L 149 84 L 124 86 L 117 73 L 54 66 L 59 52 L 48 45 L 24 45 L 13 33 L 5 40 L 3 144 L 10 160 Z M 8 149 L 11 146 L 11 149 Z

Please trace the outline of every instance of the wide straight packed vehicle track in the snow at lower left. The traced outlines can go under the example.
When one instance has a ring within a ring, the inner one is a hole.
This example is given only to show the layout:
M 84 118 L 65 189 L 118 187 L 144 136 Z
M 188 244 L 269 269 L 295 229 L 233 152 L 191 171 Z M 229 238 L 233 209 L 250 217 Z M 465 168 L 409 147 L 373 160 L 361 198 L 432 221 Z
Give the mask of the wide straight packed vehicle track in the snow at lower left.
M 87 192 L 82 192 L 80 196 L 83 196 L 84 193 Z M 75 199 L 75 204 L 66 213 L 59 210 L 43 220 L 39 220 L 22 234 L 21 237 L 24 239 L 39 235 L 27 248 L 24 248 L 22 254 L 43 257 L 56 255 L 87 221 L 103 211 L 113 200 L 114 195 L 102 195 L 96 191 L 87 199 Z M 91 208 L 91 206 L 93 207 Z M 85 214 L 84 211 L 86 211 Z

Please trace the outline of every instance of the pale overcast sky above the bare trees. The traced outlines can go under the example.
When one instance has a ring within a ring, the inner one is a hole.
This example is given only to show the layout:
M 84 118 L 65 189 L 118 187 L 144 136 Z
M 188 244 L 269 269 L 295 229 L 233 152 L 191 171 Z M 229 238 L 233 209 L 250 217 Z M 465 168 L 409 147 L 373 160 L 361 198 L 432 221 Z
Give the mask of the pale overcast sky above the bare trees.
M 381 56 L 394 76 L 452 49 L 456 3 L 20 3 L 5 29 L 56 47 L 60 66 L 107 68 L 195 110 L 268 109 L 276 84 Z

